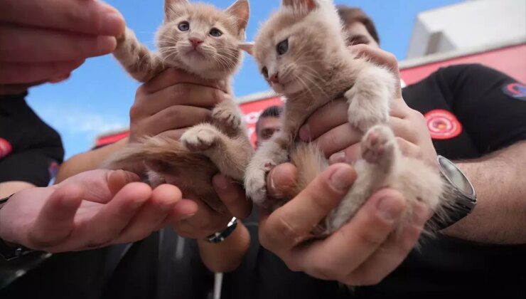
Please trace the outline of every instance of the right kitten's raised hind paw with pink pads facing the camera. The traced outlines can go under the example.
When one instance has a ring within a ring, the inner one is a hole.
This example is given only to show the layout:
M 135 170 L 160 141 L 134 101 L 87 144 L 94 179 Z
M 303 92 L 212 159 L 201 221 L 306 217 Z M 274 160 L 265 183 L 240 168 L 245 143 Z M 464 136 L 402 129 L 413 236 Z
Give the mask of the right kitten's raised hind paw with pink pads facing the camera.
M 372 127 L 361 145 L 362 157 L 369 163 L 382 163 L 390 159 L 394 152 L 394 135 L 392 130 L 385 125 Z

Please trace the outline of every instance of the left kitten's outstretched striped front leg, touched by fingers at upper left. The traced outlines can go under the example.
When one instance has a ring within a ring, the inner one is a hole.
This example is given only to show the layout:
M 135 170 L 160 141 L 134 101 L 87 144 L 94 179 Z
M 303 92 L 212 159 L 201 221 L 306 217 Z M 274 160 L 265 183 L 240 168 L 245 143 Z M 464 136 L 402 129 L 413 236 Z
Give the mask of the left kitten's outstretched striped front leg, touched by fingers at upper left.
M 113 56 L 129 75 L 140 82 L 154 78 L 163 70 L 159 57 L 139 42 L 130 28 L 126 28 L 124 34 L 117 38 L 117 48 L 113 51 Z

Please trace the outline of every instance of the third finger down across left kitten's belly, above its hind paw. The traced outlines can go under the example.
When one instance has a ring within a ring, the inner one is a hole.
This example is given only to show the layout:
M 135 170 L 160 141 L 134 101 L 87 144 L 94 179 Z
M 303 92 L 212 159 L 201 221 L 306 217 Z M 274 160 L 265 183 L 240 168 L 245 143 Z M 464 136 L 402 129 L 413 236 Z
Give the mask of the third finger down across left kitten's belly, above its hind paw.
M 197 125 L 210 120 L 211 112 L 205 108 L 192 106 L 172 106 L 144 119 L 141 122 L 141 134 L 158 135 L 168 130 L 176 130 Z

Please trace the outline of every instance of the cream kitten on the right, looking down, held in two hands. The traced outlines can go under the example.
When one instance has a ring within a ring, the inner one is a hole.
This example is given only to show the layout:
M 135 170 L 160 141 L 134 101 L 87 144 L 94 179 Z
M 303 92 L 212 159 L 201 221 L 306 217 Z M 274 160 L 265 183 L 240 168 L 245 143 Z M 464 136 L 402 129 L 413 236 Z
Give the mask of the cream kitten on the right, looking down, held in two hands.
M 339 229 L 381 187 L 404 193 L 409 201 L 404 219 L 410 219 L 412 202 L 424 201 L 431 209 L 439 206 L 443 184 L 438 170 L 402 156 L 387 126 L 394 75 L 348 51 L 332 1 L 283 0 L 259 31 L 254 57 L 272 88 L 287 98 L 281 131 L 259 148 L 245 175 L 247 195 L 256 204 L 269 206 L 265 176 L 289 157 L 298 167 L 296 192 L 327 167 L 320 150 L 296 137 L 308 115 L 343 96 L 350 125 L 365 133 L 361 158 L 354 164 L 358 178 L 313 234 L 326 236 Z

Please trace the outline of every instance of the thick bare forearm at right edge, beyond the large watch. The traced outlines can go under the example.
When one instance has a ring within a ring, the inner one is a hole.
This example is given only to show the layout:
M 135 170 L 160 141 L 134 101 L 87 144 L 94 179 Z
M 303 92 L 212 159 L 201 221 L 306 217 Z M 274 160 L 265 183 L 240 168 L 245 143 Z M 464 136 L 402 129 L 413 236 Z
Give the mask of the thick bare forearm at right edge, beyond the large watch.
M 457 164 L 476 189 L 477 205 L 444 234 L 483 243 L 526 243 L 526 142 Z

